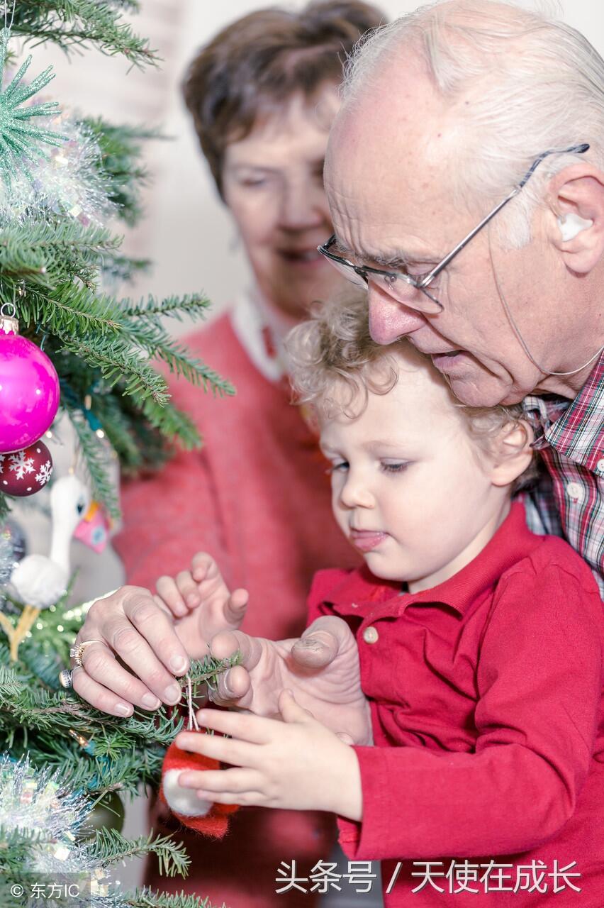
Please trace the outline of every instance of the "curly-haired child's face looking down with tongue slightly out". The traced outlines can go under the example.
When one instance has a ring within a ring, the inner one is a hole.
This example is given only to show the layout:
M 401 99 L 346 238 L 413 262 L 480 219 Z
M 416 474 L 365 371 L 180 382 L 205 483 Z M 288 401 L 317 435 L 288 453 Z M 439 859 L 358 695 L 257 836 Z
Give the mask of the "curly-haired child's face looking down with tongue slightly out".
M 492 458 L 443 380 L 424 364 L 397 365 L 395 387 L 369 392 L 356 419 L 323 419 L 321 448 L 333 465 L 340 528 L 376 577 L 406 580 L 414 592 L 478 554 L 505 517 L 510 490 L 493 485 Z

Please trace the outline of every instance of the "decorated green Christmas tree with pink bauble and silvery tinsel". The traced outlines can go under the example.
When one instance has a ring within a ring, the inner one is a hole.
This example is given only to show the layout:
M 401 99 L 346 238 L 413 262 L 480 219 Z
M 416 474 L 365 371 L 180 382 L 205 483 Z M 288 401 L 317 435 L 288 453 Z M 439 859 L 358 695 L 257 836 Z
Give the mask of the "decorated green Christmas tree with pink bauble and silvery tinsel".
M 28 45 L 54 42 L 67 53 L 96 46 L 134 66 L 156 65 L 122 18 L 136 8 L 134 0 L 16 0 L 0 12 L 0 530 L 12 496 L 52 482 L 44 433 L 57 413 L 73 424 L 87 487 L 116 517 L 107 442 L 124 470 L 160 466 L 175 442 L 200 443 L 188 416 L 170 406 L 165 372 L 233 392 L 165 327 L 166 317 L 203 316 L 202 294 L 133 301 L 108 290 L 147 265 L 123 254 L 108 225 L 141 216 L 141 143 L 152 134 L 61 110 L 49 94 L 51 67 L 40 72 L 34 54 L 24 57 Z M 15 538 L 0 531 L 1 903 L 19 903 L 15 892 L 27 892 L 28 874 L 46 873 L 50 882 L 63 871 L 88 881 L 82 904 L 94 908 L 205 905 L 191 896 L 122 893 L 107 881 L 108 866 L 149 853 L 167 873 L 186 873 L 188 858 L 169 838 L 131 842 L 107 824 L 90 828 L 100 808 L 121 814 L 118 792 L 157 785 L 183 718 L 161 710 L 118 720 L 64 691 L 58 671 L 84 607 L 67 607 L 67 595 L 53 597 L 45 581 L 39 595 L 15 596 L 18 566 Z M 183 687 L 194 695 L 225 667 L 196 663 Z M 44 899 L 53 904 L 48 893 Z

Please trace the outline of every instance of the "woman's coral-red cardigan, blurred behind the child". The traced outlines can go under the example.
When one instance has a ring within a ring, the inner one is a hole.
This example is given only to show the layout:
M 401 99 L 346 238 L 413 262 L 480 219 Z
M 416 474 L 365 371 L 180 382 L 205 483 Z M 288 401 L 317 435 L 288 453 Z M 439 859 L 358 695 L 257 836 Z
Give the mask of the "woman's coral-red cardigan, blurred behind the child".
M 161 574 L 188 568 L 209 551 L 231 589 L 246 587 L 244 629 L 256 637 L 299 636 L 319 568 L 352 567 L 356 555 L 332 517 L 326 463 L 284 383 L 261 375 L 223 316 L 187 338 L 190 350 L 229 378 L 234 398 L 214 398 L 185 381 L 174 403 L 196 420 L 200 451 L 180 453 L 161 473 L 126 482 L 124 524 L 113 545 L 128 582 L 154 587 Z M 157 821 L 154 819 L 157 829 Z M 243 808 L 216 842 L 184 834 L 190 876 L 169 880 L 152 867 L 146 883 L 199 893 L 229 908 L 293 908 L 317 896 L 277 895 L 279 863 L 295 857 L 310 871 L 335 838 L 327 814 Z

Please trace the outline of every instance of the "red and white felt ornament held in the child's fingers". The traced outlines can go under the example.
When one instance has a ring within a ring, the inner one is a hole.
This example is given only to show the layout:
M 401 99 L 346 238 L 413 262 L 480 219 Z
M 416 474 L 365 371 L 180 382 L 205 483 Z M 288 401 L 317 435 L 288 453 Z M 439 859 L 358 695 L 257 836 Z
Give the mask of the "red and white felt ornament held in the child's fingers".
M 200 732 L 200 735 L 205 732 Z M 173 742 L 166 751 L 161 767 L 160 799 L 168 804 L 180 823 L 203 835 L 221 839 L 229 828 L 229 814 L 239 810 L 239 804 L 210 804 L 197 797 L 193 788 L 182 788 L 178 776 L 186 769 L 219 769 L 218 760 L 209 756 L 181 750 Z

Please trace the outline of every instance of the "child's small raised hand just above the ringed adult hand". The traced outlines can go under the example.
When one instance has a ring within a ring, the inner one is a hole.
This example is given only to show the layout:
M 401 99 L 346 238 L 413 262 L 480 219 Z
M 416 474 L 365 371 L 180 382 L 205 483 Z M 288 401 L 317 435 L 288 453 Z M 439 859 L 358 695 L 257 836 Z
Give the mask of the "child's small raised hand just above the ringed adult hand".
M 156 590 L 158 605 L 167 606 L 177 618 L 190 615 L 201 605 L 222 609 L 227 604 L 238 611 L 248 602 L 246 590 L 229 592 L 216 561 L 207 552 L 193 556 L 190 570 L 180 571 L 176 577 L 160 577 Z

